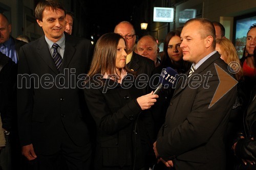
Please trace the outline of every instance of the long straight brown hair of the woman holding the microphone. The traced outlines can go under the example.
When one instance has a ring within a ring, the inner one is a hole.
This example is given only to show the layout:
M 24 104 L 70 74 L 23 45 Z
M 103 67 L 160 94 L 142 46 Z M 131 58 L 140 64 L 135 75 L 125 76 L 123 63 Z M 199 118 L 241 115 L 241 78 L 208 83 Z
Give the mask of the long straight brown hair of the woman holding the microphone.
M 92 64 L 88 72 L 90 79 L 97 74 L 104 75 L 105 72 L 110 75 L 116 73 L 116 54 L 119 40 L 124 38 L 116 33 L 107 33 L 102 35 L 94 48 Z M 125 40 L 124 40 L 125 42 Z M 126 72 L 130 70 L 124 66 Z

